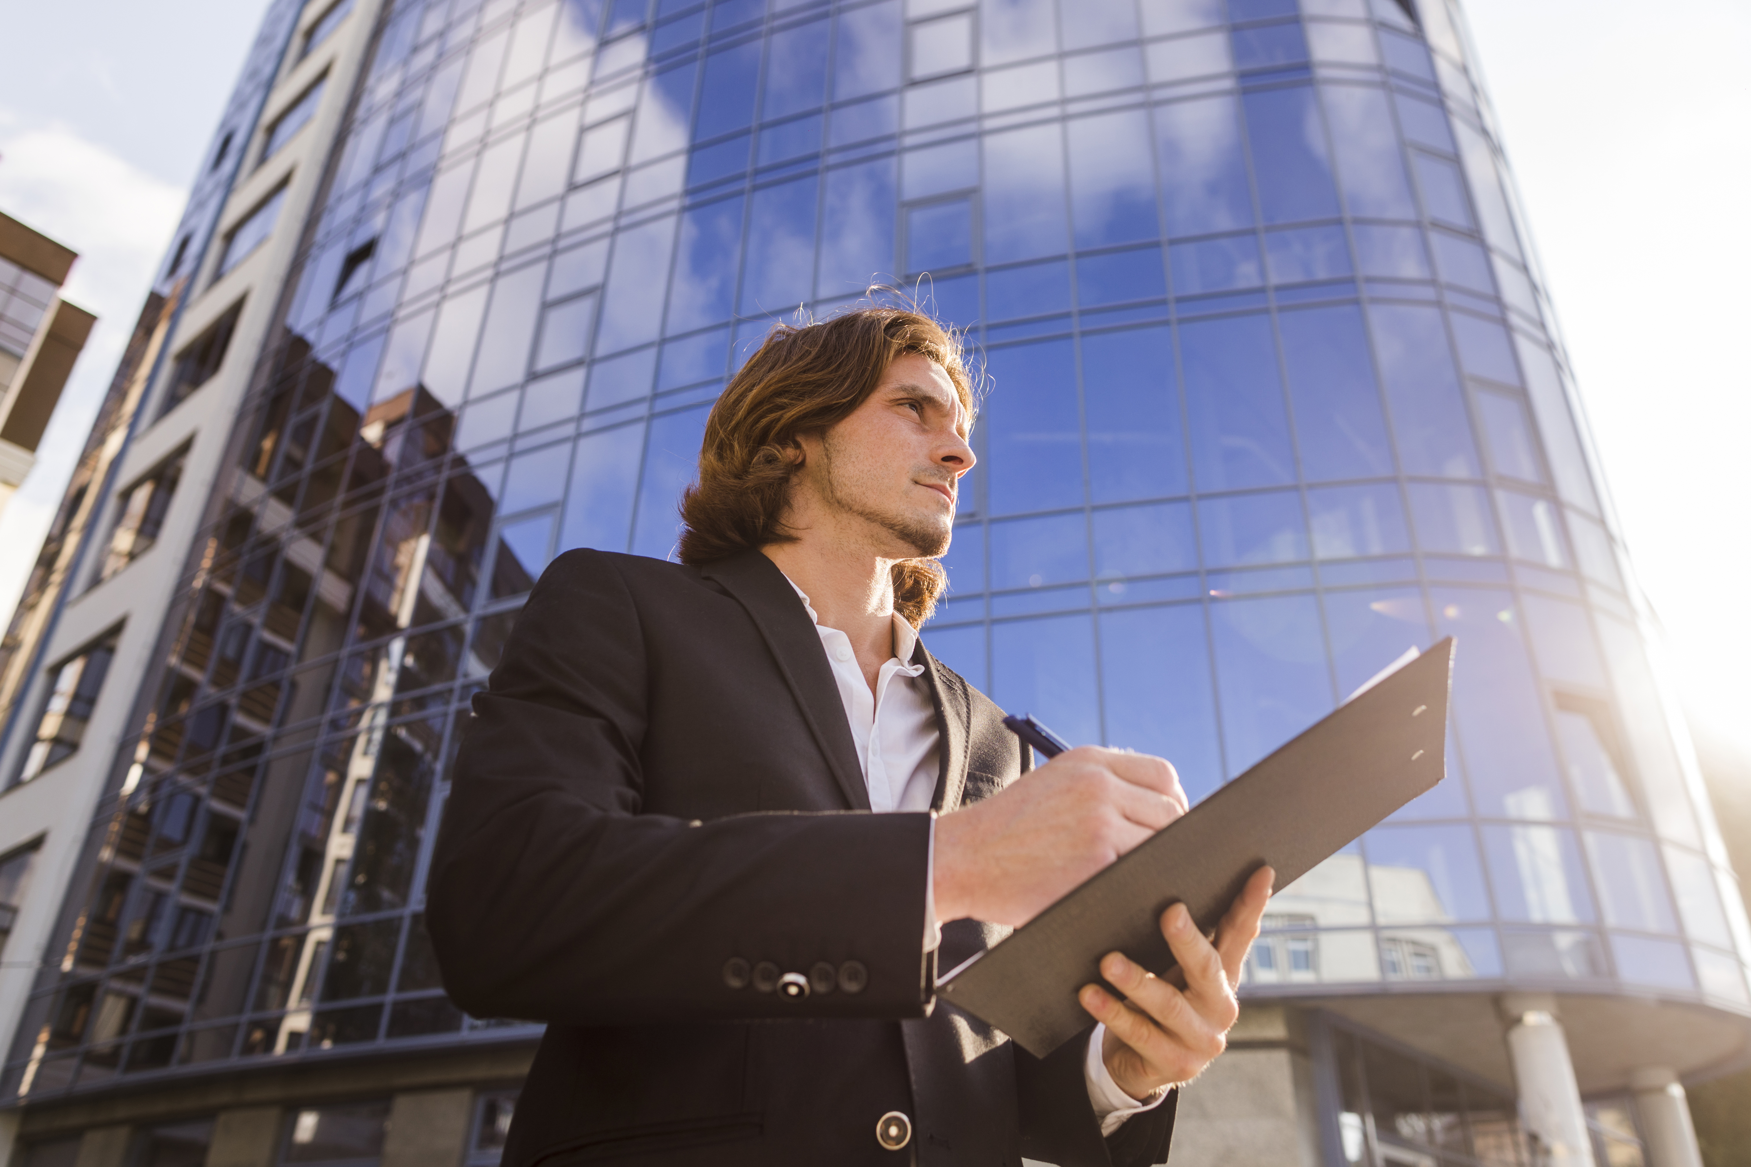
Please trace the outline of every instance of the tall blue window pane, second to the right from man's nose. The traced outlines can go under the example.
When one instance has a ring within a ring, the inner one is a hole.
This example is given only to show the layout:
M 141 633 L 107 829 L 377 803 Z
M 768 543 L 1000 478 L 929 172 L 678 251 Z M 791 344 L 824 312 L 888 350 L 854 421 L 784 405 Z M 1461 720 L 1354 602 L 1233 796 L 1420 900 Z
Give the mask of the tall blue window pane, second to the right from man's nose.
M 1168 329 L 1084 336 L 1082 395 L 1094 502 L 1185 493 L 1185 437 Z

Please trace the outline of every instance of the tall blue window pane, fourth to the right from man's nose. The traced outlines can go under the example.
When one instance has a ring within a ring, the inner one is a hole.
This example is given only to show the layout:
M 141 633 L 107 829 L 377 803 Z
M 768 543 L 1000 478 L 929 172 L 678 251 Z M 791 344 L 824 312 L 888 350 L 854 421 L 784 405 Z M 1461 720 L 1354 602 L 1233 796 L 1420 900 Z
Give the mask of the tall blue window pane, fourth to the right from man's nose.
M 1289 395 L 1310 481 L 1392 474 L 1392 446 L 1380 413 L 1380 388 L 1359 308 L 1285 311 Z

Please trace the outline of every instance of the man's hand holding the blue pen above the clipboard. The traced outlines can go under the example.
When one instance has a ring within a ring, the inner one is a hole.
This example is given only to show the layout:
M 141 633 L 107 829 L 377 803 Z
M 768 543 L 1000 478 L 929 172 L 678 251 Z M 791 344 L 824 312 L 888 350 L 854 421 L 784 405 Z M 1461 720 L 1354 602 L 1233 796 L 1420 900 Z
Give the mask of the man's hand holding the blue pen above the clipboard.
M 1163 758 L 1065 751 L 937 821 L 937 919 L 1019 927 L 1185 808 L 1180 775 Z

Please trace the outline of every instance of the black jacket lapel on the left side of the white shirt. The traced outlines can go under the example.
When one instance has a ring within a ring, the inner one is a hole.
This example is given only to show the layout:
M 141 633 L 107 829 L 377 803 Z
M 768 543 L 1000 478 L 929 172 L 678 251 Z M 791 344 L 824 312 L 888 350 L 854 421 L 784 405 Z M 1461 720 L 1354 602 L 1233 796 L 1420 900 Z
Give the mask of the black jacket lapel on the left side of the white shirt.
M 760 551 L 742 551 L 707 563 L 700 574 L 721 583 L 748 611 L 772 651 L 777 670 L 784 674 L 784 684 L 797 698 L 804 721 L 809 723 L 814 742 L 833 772 L 839 793 L 853 810 L 868 810 L 868 787 L 863 784 L 863 768 L 858 765 L 846 707 L 839 700 L 839 684 L 821 647 L 821 633 L 809 623 L 809 614 L 784 579 L 784 572 Z

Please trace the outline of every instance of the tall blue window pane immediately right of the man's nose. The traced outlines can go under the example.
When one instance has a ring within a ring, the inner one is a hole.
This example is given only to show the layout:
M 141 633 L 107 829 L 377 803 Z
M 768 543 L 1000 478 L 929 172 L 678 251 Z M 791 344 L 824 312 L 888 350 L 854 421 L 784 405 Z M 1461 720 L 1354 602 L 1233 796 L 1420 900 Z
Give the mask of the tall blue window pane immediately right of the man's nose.
M 1082 450 L 1070 341 L 996 348 L 986 401 L 993 514 L 1082 504 Z

